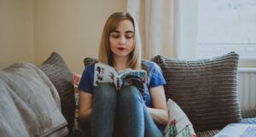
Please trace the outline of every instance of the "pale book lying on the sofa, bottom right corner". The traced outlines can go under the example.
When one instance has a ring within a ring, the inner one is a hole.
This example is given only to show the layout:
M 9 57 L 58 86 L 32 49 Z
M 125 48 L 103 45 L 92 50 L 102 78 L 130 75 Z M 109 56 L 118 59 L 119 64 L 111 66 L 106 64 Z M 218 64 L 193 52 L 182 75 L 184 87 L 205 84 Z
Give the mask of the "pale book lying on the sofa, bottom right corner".
M 256 124 L 230 123 L 213 137 L 255 137 Z

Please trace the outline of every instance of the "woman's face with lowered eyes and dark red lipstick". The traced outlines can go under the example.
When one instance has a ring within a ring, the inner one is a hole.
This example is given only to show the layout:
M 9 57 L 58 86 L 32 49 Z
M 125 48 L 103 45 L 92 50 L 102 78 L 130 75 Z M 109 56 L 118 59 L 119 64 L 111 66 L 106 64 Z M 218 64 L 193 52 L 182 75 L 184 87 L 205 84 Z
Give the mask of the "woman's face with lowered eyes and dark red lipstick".
M 129 57 L 134 49 L 134 26 L 131 20 L 121 20 L 116 30 L 110 33 L 110 49 L 113 57 Z

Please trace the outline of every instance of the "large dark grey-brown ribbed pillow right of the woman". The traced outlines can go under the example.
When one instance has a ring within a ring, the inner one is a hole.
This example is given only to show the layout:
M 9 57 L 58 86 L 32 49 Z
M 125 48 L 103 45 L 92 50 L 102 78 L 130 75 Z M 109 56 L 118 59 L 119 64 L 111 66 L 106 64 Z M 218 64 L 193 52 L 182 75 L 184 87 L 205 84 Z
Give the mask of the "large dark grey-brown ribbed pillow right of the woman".
M 241 121 L 237 97 L 239 55 L 231 52 L 207 60 L 153 59 L 166 78 L 166 98 L 177 102 L 196 132 Z

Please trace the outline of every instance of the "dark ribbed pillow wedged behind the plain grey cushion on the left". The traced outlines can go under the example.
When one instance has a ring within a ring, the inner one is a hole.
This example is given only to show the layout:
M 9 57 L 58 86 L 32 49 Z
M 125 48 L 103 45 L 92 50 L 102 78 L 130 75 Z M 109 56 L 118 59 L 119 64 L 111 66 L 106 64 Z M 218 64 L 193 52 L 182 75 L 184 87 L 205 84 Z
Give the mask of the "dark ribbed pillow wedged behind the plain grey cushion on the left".
M 73 74 L 68 69 L 65 61 L 60 54 L 53 52 L 49 58 L 45 60 L 39 68 L 49 77 L 50 81 L 55 85 L 61 98 L 61 111 L 67 119 L 68 129 L 72 130 L 74 124 L 74 87 Z

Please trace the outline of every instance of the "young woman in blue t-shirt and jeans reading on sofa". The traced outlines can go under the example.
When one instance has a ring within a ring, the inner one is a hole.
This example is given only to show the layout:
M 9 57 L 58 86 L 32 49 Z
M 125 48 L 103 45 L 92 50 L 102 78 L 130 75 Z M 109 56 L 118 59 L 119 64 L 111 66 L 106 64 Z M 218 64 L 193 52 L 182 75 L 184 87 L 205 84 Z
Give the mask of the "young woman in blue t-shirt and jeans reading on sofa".
M 111 137 L 118 124 L 122 137 L 163 136 L 157 124 L 166 124 L 168 111 L 160 67 L 142 60 L 137 24 L 129 13 L 110 15 L 102 32 L 99 61 L 116 70 L 126 68 L 148 71 L 146 101 L 134 85 L 117 92 L 112 84 L 93 87 L 94 65 L 86 66 L 79 83 L 79 120 L 90 121 L 92 137 Z

